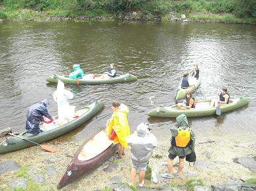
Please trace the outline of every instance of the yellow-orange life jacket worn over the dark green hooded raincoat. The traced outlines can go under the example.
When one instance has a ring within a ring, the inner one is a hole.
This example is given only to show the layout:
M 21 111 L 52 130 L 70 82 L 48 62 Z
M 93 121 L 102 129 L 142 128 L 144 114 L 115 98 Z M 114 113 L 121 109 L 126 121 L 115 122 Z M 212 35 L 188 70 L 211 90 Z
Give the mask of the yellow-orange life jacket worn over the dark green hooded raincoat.
M 178 127 L 178 134 L 172 137 L 171 144 L 177 148 L 188 148 L 191 145 L 191 128 L 181 129 Z

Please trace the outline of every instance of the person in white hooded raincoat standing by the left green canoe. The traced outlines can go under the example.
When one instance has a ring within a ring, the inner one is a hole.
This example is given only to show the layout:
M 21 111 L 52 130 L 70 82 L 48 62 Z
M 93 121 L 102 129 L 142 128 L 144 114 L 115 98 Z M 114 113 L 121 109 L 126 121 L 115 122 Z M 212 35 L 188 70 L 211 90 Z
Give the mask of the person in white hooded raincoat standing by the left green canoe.
M 64 89 L 64 83 L 58 80 L 57 90 L 54 92 L 54 101 L 58 103 L 58 117 L 61 123 L 74 117 L 75 106 L 69 105 L 69 99 L 74 95 L 69 90 Z

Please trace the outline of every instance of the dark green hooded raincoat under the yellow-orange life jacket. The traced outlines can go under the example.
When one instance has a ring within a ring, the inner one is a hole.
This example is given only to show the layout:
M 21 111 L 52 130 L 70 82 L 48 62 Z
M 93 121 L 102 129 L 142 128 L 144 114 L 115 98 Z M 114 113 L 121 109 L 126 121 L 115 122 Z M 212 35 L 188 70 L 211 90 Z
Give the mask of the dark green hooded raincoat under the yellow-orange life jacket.
M 189 123 L 185 114 L 181 114 L 176 118 L 179 128 L 187 129 L 189 127 Z M 171 128 L 171 135 L 176 137 L 178 135 L 178 126 Z M 188 148 L 177 148 L 176 146 L 172 146 L 169 148 L 169 153 L 177 156 L 186 156 L 194 150 L 194 146 L 196 144 L 196 137 L 194 135 L 193 130 L 191 129 L 191 146 Z

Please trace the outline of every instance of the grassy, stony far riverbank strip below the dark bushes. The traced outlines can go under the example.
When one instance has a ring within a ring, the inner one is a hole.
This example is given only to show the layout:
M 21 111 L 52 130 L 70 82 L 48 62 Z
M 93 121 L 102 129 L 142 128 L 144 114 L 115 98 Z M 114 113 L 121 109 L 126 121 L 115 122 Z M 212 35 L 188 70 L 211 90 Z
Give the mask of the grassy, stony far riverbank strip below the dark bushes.
M 1 11 L 0 21 L 89 21 L 89 20 L 130 20 L 130 21 L 185 21 L 185 22 L 220 22 L 237 24 L 256 24 L 256 18 L 237 18 L 233 14 L 190 13 L 185 14 L 170 12 L 168 14 L 145 14 L 142 11 L 130 13 L 110 14 L 106 12 L 85 11 L 80 16 L 66 16 L 64 11 L 33 11 L 19 9 L 15 11 Z

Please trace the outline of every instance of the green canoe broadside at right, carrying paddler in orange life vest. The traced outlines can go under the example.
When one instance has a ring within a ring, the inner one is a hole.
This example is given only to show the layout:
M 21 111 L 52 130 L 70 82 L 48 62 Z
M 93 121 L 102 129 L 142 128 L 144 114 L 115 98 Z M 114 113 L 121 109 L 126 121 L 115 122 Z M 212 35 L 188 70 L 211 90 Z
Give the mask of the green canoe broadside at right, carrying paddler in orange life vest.
M 211 107 L 211 100 L 195 101 L 196 107 L 194 109 L 182 110 L 177 105 L 169 107 L 160 106 L 149 111 L 149 117 L 177 117 L 184 113 L 187 117 L 201 117 L 206 115 L 214 115 L 216 107 Z M 230 103 L 220 106 L 221 112 L 226 113 L 234 109 L 248 105 L 249 101 L 243 97 L 237 99 L 230 99 Z

